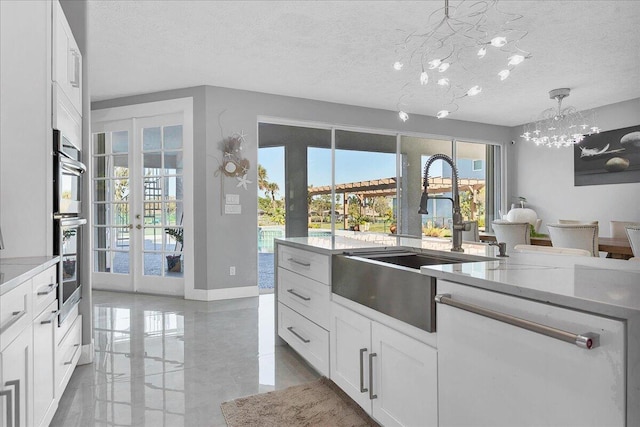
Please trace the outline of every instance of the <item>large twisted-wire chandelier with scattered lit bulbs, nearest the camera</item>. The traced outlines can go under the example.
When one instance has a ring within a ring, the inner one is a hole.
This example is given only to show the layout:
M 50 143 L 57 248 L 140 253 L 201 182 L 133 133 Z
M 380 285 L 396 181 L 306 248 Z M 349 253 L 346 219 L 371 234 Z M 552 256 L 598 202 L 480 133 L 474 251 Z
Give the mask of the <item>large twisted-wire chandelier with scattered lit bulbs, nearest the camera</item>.
M 435 116 L 447 117 L 463 98 L 479 95 L 491 80 L 504 81 L 531 57 L 517 46 L 527 32 L 512 26 L 522 15 L 499 10 L 497 3 L 462 0 L 449 6 L 445 0 L 426 28 L 398 45 L 393 68 L 410 74 L 397 105 L 402 121 L 409 119 L 404 109 L 415 98 L 436 100 Z

